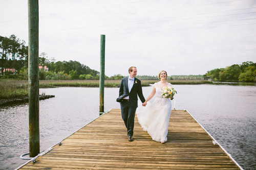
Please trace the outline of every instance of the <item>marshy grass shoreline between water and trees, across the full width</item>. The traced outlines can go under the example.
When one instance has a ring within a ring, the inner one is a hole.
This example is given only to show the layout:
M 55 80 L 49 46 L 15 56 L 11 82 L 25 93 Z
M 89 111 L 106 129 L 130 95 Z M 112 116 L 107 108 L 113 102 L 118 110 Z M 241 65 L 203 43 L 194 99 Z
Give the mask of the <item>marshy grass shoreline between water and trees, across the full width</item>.
M 104 87 L 119 88 L 121 80 L 105 80 Z M 142 87 L 151 86 L 159 80 L 141 80 Z M 255 83 L 230 83 L 212 82 L 206 80 L 167 80 L 173 85 L 242 85 L 255 86 Z M 20 104 L 28 102 L 28 81 L 24 80 L 0 80 L 0 106 Z M 39 88 L 57 87 L 99 87 L 99 80 L 42 80 L 39 81 Z M 39 95 L 39 100 L 54 98 L 54 95 Z

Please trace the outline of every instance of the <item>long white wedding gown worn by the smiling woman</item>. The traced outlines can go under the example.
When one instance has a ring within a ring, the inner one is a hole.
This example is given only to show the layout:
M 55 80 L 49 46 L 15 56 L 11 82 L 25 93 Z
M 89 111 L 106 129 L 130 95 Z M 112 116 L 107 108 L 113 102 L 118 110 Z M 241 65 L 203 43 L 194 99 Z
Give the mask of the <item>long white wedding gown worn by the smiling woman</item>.
M 172 86 L 172 84 L 169 83 L 168 86 Z M 167 141 L 172 103 L 170 99 L 162 97 L 162 89 L 158 83 L 155 83 L 154 87 L 156 88 L 155 100 L 153 103 L 148 102 L 145 107 L 138 107 L 136 114 L 141 127 L 153 140 Z

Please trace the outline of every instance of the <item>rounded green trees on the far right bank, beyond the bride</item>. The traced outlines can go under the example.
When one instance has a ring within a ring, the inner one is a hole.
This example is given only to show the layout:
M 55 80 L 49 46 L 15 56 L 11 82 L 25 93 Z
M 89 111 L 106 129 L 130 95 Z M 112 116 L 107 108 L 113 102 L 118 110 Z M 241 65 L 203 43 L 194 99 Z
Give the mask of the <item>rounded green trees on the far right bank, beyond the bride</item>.
M 207 73 L 213 81 L 230 81 L 230 82 L 254 82 L 256 78 L 256 63 L 252 61 L 243 62 L 242 64 L 233 64 L 226 68 L 216 68 Z

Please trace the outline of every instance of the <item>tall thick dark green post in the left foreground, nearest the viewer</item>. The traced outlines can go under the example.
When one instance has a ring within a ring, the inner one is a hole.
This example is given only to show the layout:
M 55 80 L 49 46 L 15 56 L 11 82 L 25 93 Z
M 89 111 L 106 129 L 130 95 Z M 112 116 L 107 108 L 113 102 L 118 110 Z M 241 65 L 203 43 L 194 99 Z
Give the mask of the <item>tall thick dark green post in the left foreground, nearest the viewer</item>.
M 40 153 L 38 0 L 28 0 L 29 13 L 29 155 Z

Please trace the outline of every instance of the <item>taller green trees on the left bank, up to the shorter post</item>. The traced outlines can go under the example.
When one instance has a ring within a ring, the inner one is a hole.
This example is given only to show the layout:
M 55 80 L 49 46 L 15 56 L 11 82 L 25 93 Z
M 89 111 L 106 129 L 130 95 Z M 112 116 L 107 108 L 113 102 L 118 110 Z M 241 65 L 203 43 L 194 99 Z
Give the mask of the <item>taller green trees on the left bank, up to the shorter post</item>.
M 2 78 L 28 79 L 28 46 L 15 35 L 0 36 L 0 71 Z M 57 61 L 46 53 L 39 55 L 39 80 L 92 80 L 99 79 L 99 72 L 78 61 Z M 38 67 L 39 67 L 38 65 Z M 44 66 L 47 70 L 44 70 Z

